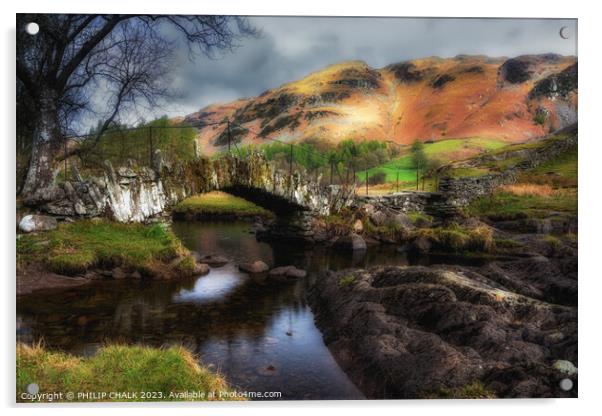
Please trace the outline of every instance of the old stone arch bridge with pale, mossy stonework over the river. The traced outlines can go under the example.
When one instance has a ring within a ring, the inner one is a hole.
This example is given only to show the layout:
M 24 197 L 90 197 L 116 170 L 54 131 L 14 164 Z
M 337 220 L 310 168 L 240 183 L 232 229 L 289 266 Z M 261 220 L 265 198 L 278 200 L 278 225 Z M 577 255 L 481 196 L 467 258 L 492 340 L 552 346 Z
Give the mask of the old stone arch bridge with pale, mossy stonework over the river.
M 353 187 L 324 186 L 302 172 L 283 172 L 260 153 L 174 165 L 165 164 L 159 152 L 154 156 L 151 168 L 116 168 L 107 161 L 102 172 L 86 179 L 73 169 L 75 179 L 57 185 L 41 209 L 54 215 L 140 222 L 188 196 L 213 190 L 242 196 L 277 213 L 327 215 L 354 200 Z

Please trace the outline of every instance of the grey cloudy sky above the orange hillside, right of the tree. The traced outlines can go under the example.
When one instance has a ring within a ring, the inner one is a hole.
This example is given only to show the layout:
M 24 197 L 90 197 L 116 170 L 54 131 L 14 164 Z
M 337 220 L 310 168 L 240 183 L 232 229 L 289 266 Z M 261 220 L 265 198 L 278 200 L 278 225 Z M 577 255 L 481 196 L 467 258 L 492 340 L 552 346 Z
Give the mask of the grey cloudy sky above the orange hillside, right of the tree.
M 426 56 L 577 55 L 576 20 L 252 17 L 258 38 L 217 59 L 190 62 L 174 73 L 181 96 L 158 110 L 185 115 L 216 103 L 261 94 L 326 65 L 363 60 L 379 68 Z M 569 39 L 559 35 L 566 26 Z

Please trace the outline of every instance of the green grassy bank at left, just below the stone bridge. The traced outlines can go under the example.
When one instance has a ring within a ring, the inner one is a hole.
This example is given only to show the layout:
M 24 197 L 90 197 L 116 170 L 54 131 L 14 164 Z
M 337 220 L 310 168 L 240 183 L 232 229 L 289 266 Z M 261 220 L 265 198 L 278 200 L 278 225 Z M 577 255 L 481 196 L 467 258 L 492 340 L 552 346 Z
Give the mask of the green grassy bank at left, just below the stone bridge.
M 43 262 L 56 273 L 73 275 L 90 267 L 122 266 L 151 272 L 159 262 L 187 254 L 173 232 L 161 225 L 82 220 L 56 230 L 22 235 L 19 262 Z

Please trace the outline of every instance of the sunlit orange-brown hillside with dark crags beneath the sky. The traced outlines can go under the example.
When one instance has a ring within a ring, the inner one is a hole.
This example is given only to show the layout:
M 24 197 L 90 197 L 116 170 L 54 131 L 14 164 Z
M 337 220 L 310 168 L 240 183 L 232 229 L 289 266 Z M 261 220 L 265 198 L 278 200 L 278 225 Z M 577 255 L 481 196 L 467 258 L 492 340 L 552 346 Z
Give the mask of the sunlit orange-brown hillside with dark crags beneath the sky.
M 244 144 L 316 137 L 523 142 L 576 121 L 577 60 L 432 57 L 381 69 L 343 62 L 258 97 L 209 105 L 184 122 L 209 124 L 197 141 L 211 154 L 228 143 L 228 119 L 233 141 Z

